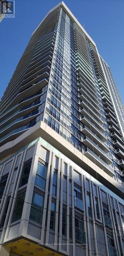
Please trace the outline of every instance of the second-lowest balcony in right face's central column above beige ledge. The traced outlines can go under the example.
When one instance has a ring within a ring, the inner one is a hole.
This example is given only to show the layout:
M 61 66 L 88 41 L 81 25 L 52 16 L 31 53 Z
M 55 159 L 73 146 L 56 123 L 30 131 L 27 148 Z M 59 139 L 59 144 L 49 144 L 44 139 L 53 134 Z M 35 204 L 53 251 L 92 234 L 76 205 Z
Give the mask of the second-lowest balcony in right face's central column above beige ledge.
M 109 155 L 105 153 L 105 151 L 102 150 L 97 144 L 95 144 L 90 138 L 87 136 L 84 136 L 84 139 L 82 140 L 83 144 L 87 146 L 91 151 L 94 152 L 98 157 L 103 159 L 104 162 L 107 164 L 112 163 L 112 160 Z

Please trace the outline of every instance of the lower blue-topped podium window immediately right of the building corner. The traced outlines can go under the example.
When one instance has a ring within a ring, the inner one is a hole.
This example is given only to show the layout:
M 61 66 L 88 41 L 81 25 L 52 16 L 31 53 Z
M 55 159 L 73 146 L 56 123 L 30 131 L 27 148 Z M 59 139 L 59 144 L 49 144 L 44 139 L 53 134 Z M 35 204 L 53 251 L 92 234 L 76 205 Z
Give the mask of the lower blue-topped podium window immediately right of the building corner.
M 41 224 L 42 220 L 42 207 L 43 207 L 43 197 L 34 192 L 32 198 L 32 206 L 30 211 L 30 220 L 36 221 Z

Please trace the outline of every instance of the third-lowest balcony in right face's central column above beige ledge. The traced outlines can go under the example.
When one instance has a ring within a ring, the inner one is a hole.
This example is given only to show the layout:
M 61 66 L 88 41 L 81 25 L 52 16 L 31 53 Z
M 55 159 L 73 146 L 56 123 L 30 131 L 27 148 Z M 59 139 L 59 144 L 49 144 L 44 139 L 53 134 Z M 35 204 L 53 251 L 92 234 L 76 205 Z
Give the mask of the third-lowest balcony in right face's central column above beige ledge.
M 104 143 L 100 138 L 98 138 L 96 134 L 91 132 L 91 130 L 86 125 L 83 126 L 82 132 L 90 139 L 92 139 L 95 144 L 98 144 L 98 146 L 101 147 L 102 150 L 104 150 L 106 153 L 109 152 L 109 147 L 107 146 L 107 144 Z

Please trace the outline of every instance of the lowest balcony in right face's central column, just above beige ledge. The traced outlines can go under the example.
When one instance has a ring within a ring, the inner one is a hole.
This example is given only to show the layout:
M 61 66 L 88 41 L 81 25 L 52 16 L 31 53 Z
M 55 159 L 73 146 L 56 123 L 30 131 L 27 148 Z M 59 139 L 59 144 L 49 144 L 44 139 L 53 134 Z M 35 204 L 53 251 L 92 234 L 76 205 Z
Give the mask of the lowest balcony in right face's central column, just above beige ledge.
M 89 158 L 93 163 L 95 163 L 98 167 L 103 169 L 109 176 L 114 176 L 113 168 L 105 163 L 100 157 L 94 154 L 88 147 L 85 148 L 83 153 L 87 158 Z

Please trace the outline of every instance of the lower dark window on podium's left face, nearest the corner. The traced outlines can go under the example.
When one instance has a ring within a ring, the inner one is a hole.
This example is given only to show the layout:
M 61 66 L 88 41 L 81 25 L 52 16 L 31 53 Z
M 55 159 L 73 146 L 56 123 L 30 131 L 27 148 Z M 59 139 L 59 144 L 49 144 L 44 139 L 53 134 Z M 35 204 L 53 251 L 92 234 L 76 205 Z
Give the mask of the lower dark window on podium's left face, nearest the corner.
M 21 219 L 25 194 L 26 193 L 24 192 L 22 194 L 17 195 L 13 216 L 12 216 L 12 222 Z

